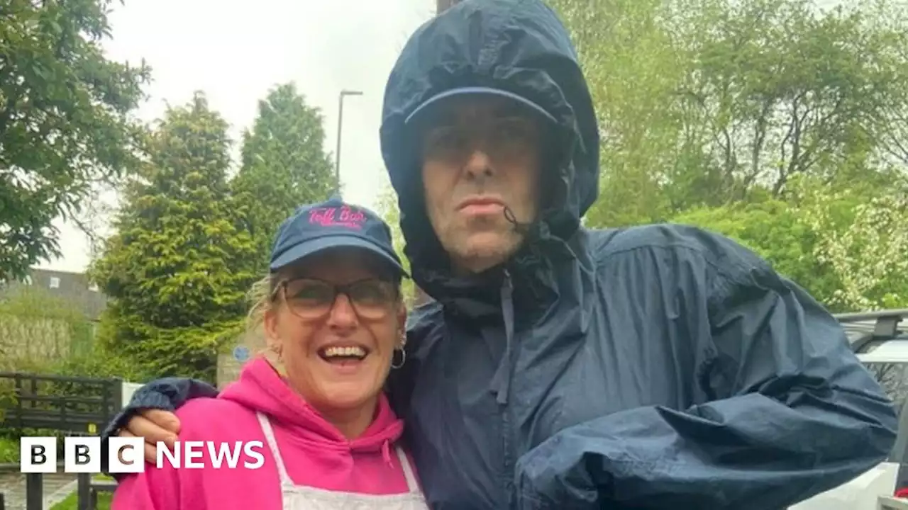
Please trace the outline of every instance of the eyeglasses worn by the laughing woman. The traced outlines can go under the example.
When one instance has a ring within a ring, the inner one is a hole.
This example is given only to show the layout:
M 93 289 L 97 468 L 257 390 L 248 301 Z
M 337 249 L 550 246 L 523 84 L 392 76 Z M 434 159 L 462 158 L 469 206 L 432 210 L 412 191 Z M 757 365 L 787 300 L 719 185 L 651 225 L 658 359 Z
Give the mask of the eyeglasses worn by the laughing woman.
M 294 315 L 301 319 L 321 319 L 331 312 L 338 295 L 344 294 L 362 319 L 384 319 L 398 300 L 397 286 L 390 281 L 368 279 L 347 285 L 297 278 L 281 281 L 279 288 Z

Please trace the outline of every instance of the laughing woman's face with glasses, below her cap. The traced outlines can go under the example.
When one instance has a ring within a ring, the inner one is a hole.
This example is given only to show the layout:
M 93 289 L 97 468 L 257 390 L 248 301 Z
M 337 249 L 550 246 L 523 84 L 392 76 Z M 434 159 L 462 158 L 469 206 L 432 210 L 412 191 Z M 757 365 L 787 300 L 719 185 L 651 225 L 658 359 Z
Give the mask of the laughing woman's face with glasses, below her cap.
M 388 377 L 406 321 L 397 289 L 377 260 L 333 250 L 284 270 L 271 310 L 270 341 L 291 386 L 313 407 L 346 410 L 374 402 Z M 340 286 L 350 295 L 335 289 Z

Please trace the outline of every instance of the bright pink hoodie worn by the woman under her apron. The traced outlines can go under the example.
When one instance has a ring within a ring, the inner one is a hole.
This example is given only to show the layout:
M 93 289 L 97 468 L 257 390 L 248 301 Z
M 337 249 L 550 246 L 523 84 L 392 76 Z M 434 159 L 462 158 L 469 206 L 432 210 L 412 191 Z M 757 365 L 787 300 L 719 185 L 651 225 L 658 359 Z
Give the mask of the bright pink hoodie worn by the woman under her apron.
M 113 510 L 281 510 L 278 470 L 256 417 L 271 421 L 287 473 L 295 485 L 368 495 L 404 494 L 407 480 L 394 446 L 403 429 L 384 394 L 378 416 L 366 432 L 349 441 L 309 407 L 262 358 L 242 369 L 240 379 L 216 398 L 193 398 L 180 407 L 178 440 L 261 441 L 259 469 L 243 467 L 256 458 L 240 456 L 235 468 L 176 469 L 164 457 L 163 468 L 146 463 L 145 471 L 124 476 L 114 494 Z M 220 448 L 220 445 L 216 447 Z M 207 446 L 204 451 L 207 452 Z M 185 463 L 185 456 L 180 460 Z M 412 466 L 412 461 L 410 461 Z

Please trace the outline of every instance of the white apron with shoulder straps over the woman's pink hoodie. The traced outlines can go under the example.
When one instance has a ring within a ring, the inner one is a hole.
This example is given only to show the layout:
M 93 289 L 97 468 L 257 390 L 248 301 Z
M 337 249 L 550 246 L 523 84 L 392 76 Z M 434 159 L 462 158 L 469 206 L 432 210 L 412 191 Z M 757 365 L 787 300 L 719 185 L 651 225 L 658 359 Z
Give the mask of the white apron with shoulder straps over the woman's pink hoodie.
M 338 510 L 341 508 L 344 510 L 429 510 L 429 505 L 426 504 L 425 498 L 419 491 L 419 485 L 416 482 L 416 476 L 413 475 L 410 461 L 404 455 L 400 446 L 396 446 L 395 449 L 398 457 L 400 457 L 400 465 L 403 466 L 404 476 L 407 478 L 409 492 L 405 494 L 352 494 L 304 485 L 293 485 L 293 481 L 287 475 L 287 468 L 284 466 L 277 441 L 274 439 L 274 429 L 271 428 L 271 422 L 262 413 L 256 414 L 259 417 L 259 423 L 262 424 L 262 432 L 265 433 L 268 448 L 271 450 L 274 462 L 278 466 L 278 475 L 281 477 L 282 510 Z

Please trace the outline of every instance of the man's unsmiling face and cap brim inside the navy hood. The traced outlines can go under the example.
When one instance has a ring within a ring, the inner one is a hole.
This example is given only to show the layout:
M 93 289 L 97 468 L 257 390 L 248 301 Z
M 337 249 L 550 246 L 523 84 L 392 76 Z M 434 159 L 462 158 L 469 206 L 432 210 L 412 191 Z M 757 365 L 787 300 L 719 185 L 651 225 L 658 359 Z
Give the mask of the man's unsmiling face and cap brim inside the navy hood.
M 429 221 L 455 269 L 480 272 L 508 259 L 520 223 L 538 210 L 541 125 L 518 103 L 452 97 L 421 130 L 422 182 Z

